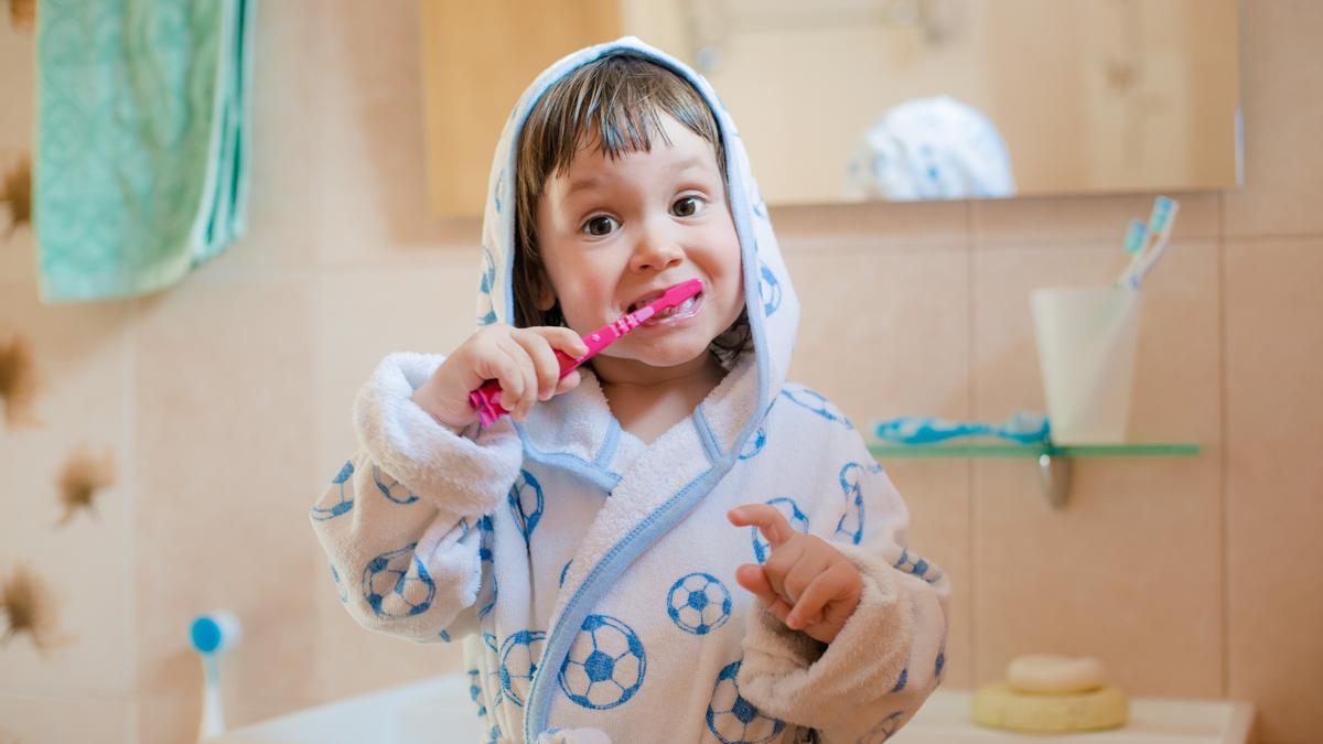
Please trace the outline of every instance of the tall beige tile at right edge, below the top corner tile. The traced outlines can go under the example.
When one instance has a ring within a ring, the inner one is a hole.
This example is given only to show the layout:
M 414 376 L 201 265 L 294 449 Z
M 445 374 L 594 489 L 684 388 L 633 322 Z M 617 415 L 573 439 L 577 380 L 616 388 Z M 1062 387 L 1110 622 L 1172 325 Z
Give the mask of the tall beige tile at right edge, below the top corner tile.
M 1265 741 L 1323 739 L 1323 240 L 1226 248 L 1228 650 Z

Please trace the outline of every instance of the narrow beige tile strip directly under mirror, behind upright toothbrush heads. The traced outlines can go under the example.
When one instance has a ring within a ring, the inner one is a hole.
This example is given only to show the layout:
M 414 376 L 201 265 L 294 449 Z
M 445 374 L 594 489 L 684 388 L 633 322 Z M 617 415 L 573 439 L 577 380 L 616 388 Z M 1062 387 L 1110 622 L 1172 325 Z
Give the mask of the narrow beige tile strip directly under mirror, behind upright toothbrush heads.
M 1180 203 L 1174 241 L 1216 238 L 1221 208 L 1216 192 L 1170 193 Z M 1102 242 L 1118 250 L 1131 218 L 1148 221 L 1150 195 L 984 200 L 972 203 L 976 246 Z M 1119 267 L 1118 267 L 1119 273 Z

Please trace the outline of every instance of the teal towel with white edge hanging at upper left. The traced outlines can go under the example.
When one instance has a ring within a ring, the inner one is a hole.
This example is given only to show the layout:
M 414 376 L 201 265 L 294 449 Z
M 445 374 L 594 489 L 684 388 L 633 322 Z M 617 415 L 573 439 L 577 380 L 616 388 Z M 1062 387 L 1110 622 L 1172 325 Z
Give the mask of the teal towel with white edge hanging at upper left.
M 255 0 L 41 0 L 45 302 L 177 282 L 243 234 Z

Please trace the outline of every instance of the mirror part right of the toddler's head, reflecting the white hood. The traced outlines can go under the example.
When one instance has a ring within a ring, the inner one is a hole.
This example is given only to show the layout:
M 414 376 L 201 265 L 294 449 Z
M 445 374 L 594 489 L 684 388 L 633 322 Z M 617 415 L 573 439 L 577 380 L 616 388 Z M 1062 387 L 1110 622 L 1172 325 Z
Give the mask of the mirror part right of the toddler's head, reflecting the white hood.
M 1240 183 L 1236 0 L 622 0 L 769 204 Z

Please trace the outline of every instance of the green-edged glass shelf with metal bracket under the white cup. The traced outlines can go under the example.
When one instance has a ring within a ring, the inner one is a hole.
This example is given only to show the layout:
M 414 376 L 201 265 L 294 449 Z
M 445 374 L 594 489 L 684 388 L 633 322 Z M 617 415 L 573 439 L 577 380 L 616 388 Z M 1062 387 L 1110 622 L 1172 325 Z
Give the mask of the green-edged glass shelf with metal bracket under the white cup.
M 1070 495 L 1070 463 L 1076 458 L 1195 457 L 1200 446 L 1191 442 L 1134 442 L 1123 445 L 1017 445 L 975 441 L 934 445 L 900 445 L 873 441 L 868 451 L 878 459 L 923 458 L 1033 458 L 1039 461 L 1039 482 L 1053 507 L 1065 506 Z

